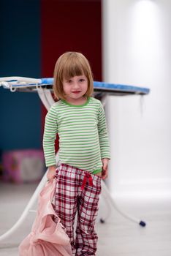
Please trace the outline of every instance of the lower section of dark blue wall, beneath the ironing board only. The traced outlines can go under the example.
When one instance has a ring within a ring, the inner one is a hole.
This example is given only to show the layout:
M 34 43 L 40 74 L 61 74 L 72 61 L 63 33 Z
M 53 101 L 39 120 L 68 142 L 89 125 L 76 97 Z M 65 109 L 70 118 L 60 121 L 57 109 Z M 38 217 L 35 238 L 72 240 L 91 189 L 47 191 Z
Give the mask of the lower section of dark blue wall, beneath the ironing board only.
M 0 90 L 0 148 L 40 148 L 40 102 L 35 93 Z

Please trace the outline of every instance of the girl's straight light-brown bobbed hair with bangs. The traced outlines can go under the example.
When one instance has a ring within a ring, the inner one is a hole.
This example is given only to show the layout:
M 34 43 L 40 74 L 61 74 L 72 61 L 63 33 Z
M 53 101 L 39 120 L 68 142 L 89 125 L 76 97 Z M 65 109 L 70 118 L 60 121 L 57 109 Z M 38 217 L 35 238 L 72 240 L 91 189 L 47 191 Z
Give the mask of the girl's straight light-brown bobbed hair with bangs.
M 93 74 L 91 67 L 82 53 L 66 52 L 56 61 L 54 69 L 53 91 L 57 99 L 65 99 L 63 81 L 77 75 L 86 75 L 88 79 L 88 89 L 84 96 L 90 97 L 94 91 Z

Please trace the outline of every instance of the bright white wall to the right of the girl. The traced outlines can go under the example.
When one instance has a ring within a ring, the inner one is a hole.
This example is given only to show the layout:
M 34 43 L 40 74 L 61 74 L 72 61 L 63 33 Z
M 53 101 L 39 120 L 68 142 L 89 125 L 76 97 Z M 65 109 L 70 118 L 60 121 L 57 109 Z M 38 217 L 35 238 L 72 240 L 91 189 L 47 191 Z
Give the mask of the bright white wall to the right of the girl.
M 171 1 L 103 1 L 104 80 L 148 87 L 108 97 L 110 191 L 115 197 L 171 195 Z

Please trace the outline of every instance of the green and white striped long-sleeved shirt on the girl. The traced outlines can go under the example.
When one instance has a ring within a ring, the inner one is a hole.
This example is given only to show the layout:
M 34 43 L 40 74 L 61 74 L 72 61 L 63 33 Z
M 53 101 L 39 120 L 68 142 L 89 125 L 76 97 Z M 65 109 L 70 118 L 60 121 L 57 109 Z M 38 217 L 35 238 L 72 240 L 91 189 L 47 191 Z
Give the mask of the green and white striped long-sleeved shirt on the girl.
M 102 158 L 110 158 L 104 109 L 98 99 L 89 97 L 83 105 L 61 99 L 52 105 L 45 118 L 43 138 L 47 167 L 56 165 L 56 133 L 61 163 L 97 173 L 102 170 Z

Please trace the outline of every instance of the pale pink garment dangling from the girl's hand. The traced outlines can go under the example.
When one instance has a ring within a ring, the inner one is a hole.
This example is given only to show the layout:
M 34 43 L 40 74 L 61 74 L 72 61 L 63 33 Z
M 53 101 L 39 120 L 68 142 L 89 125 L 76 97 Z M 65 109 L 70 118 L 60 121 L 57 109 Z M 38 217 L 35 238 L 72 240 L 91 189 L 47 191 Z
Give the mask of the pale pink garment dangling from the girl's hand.
M 60 219 L 54 211 L 53 195 L 56 179 L 48 181 L 39 194 L 37 217 L 26 238 L 19 246 L 20 256 L 71 256 L 72 249 Z M 54 218 L 58 222 L 54 222 Z

